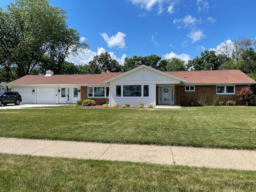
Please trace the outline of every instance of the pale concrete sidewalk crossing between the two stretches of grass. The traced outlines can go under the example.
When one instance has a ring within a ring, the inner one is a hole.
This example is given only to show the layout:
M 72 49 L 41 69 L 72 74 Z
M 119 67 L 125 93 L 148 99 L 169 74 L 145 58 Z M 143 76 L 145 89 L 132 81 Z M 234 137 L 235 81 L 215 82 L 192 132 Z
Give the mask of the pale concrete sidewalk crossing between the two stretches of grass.
M 256 151 L 0 138 L 0 153 L 256 171 Z

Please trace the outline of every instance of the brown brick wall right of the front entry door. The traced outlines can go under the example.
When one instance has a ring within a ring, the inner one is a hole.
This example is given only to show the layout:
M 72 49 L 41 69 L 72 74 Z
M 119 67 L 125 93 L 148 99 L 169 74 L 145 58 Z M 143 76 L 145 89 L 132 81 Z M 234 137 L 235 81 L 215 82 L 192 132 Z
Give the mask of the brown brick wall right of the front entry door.
M 236 85 L 236 92 L 244 86 L 246 85 Z M 216 85 L 195 86 L 195 92 L 185 92 L 185 86 L 175 86 L 175 93 L 175 104 L 181 106 L 184 106 L 186 99 L 194 101 L 194 106 L 198 106 L 197 101 L 204 98 L 208 104 L 212 104 L 216 96 L 218 96 L 220 101 L 223 101 L 223 105 L 226 105 L 228 100 L 236 101 L 236 105 L 245 105 L 243 100 L 238 100 L 237 95 L 216 95 Z

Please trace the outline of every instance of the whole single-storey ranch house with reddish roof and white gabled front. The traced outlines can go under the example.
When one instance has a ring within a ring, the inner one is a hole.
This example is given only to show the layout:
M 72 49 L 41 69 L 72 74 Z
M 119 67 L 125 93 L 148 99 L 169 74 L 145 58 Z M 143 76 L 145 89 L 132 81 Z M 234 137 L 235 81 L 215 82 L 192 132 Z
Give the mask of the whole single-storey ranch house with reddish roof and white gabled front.
M 8 86 L 22 95 L 23 104 L 76 104 L 80 99 L 93 99 L 96 104 L 109 105 L 143 103 L 156 105 L 184 105 L 186 99 L 238 100 L 236 92 L 244 86 L 256 84 L 240 70 L 162 72 L 145 65 L 124 73 L 84 75 L 27 75 Z

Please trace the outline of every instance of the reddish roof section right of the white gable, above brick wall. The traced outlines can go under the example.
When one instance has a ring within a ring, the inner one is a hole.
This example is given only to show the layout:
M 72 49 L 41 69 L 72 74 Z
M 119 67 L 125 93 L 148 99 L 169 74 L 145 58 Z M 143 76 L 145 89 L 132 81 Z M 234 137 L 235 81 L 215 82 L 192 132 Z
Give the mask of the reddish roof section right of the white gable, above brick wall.
M 249 84 L 256 83 L 240 70 L 166 72 L 187 80 L 186 84 Z

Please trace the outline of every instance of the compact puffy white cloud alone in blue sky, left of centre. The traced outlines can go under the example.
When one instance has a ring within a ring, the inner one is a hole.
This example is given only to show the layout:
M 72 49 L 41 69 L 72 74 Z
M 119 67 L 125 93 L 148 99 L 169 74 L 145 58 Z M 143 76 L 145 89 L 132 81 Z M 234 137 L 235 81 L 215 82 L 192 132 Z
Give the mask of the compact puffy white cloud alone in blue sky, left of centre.
M 106 33 L 100 34 L 104 40 L 107 42 L 108 47 L 126 48 L 124 38 L 126 34 L 118 32 L 115 36 L 109 37 Z

